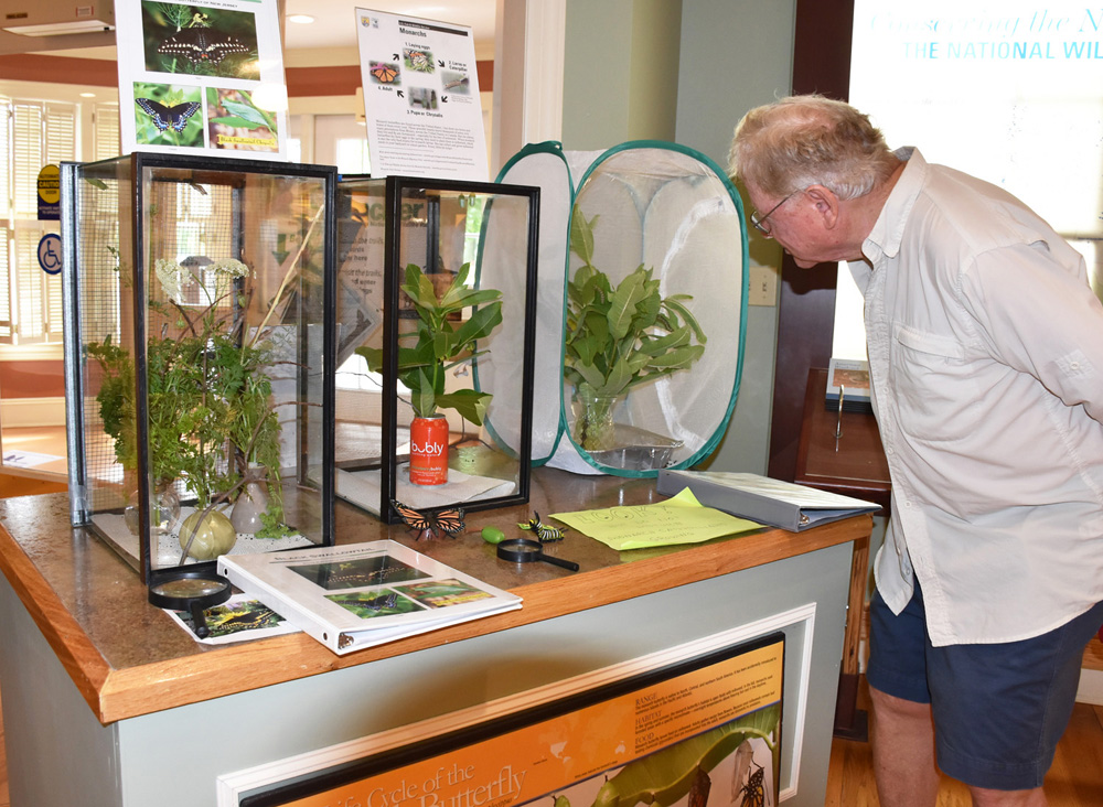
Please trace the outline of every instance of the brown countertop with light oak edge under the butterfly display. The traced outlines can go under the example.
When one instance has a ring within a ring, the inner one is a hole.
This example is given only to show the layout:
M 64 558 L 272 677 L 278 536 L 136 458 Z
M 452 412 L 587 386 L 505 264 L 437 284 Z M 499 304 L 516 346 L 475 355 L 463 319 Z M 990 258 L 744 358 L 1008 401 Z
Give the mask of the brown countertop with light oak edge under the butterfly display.
M 101 723 L 233 695 L 460 639 L 585 611 L 769 563 L 869 535 L 859 516 L 806 532 L 760 529 L 689 547 L 618 552 L 577 531 L 552 551 L 578 562 L 572 573 L 547 563 L 499 560 L 479 532 L 531 512 L 552 513 L 663 501 L 653 480 L 533 473 L 531 503 L 469 514 L 456 539 L 414 541 L 338 503 L 336 542 L 393 538 L 524 598 L 520 611 L 336 656 L 306 634 L 235 645 L 192 641 L 150 605 L 137 573 L 90 530 L 68 523 L 68 496 L 0 501 L 0 571 L 30 612 Z

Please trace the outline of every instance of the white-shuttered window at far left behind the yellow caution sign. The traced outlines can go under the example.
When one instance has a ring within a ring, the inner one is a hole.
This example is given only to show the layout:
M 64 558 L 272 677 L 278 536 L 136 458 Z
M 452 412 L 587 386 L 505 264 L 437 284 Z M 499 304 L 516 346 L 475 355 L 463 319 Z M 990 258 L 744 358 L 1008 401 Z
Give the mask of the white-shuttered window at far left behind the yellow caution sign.
M 39 171 L 77 158 L 74 104 L 0 97 L 0 344 L 62 341 L 62 280 L 39 267 L 39 241 L 57 233 L 40 222 Z

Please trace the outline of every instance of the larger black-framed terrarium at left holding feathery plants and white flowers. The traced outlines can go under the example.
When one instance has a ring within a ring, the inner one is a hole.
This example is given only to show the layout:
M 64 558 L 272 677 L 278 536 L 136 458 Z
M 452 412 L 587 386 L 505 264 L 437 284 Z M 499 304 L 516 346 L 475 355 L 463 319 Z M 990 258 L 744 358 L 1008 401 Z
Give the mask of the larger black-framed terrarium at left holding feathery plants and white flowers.
M 333 544 L 335 170 L 63 165 L 72 520 L 152 584 Z

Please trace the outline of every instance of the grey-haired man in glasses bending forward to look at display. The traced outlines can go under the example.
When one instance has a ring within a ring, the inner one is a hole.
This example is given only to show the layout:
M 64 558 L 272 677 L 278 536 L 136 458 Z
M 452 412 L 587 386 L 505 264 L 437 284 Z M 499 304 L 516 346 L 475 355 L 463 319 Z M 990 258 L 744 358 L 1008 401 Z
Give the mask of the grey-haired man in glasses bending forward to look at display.
M 892 478 L 867 678 L 882 807 L 1045 805 L 1103 624 L 1103 306 L 1083 258 L 1005 191 L 890 151 L 817 96 L 731 146 L 751 223 L 849 261 Z M 763 212 L 764 211 L 764 212 Z

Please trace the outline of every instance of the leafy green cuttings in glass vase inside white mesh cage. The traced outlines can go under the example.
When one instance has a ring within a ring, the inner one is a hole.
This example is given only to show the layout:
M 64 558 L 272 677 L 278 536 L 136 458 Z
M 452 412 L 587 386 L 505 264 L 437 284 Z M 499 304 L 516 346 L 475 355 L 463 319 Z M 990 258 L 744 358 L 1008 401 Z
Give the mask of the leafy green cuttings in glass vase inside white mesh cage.
M 593 227 L 576 206 L 570 250 L 582 265 L 567 282 L 564 378 L 572 385 L 575 442 L 586 451 L 615 446 L 613 410 L 642 384 L 688 368 L 705 352 L 705 334 L 686 308 L 689 294 L 662 297 L 641 263 L 615 287 L 593 266 Z

